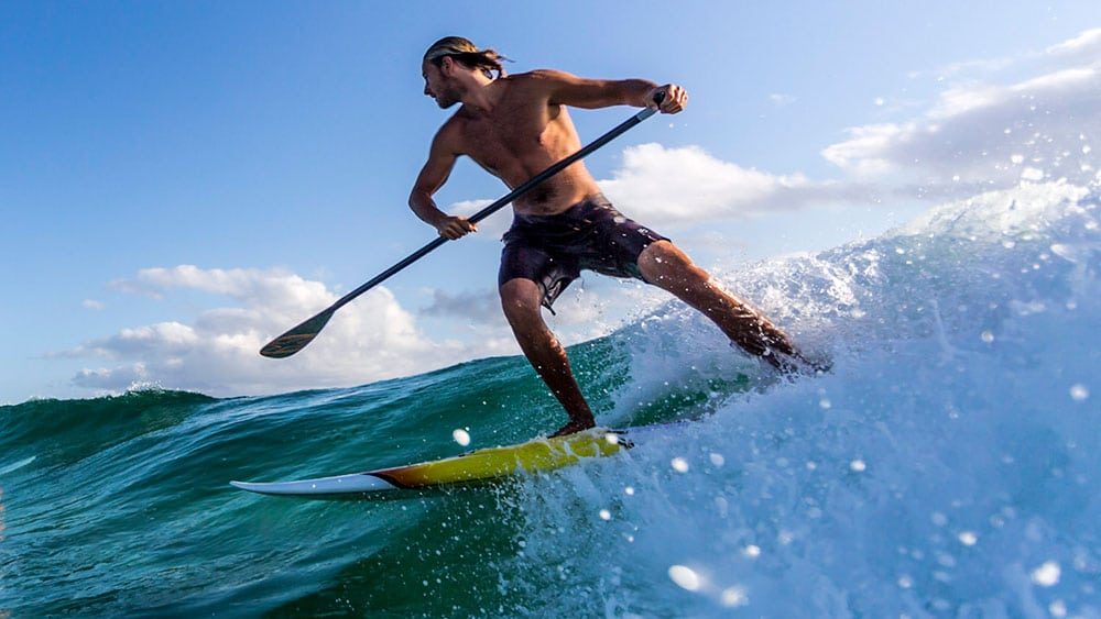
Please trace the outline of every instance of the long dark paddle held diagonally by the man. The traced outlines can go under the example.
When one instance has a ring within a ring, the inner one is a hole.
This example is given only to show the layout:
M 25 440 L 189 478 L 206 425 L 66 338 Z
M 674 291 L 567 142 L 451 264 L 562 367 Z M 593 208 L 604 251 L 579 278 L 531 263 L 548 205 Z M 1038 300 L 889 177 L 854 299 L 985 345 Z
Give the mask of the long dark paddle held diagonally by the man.
M 664 96 L 665 96 L 664 92 L 658 92 L 654 97 L 654 101 L 661 103 Z M 657 110 L 654 108 L 646 108 L 640 111 L 639 113 L 634 114 L 633 117 L 620 123 L 618 126 L 615 126 L 615 129 L 612 129 L 608 133 L 593 140 L 592 143 L 589 144 L 588 146 L 585 146 L 580 151 L 574 153 L 573 155 L 566 157 L 565 159 L 538 173 L 537 175 L 533 176 L 530 180 L 527 180 L 520 187 L 516 187 L 512 191 L 509 191 L 509 194 L 502 197 L 500 200 L 476 212 L 473 215 L 469 218 L 469 221 L 471 223 L 478 223 L 479 221 L 486 219 L 487 217 L 495 213 L 497 211 L 501 210 L 502 207 L 515 200 L 516 198 L 523 196 L 536 185 L 543 183 L 544 180 L 562 172 L 566 166 L 573 164 L 574 162 L 580 159 L 581 157 L 585 157 L 589 153 L 592 153 L 593 151 L 611 142 L 615 137 L 619 137 L 620 134 L 624 133 L 626 130 L 654 115 L 654 112 L 656 111 Z M 316 338 L 317 334 L 321 332 L 321 329 L 325 329 L 325 325 L 328 324 L 329 319 L 333 318 L 333 314 L 336 313 L 338 309 L 348 305 L 356 297 L 362 295 L 363 292 L 367 292 L 368 290 L 374 288 L 379 284 L 382 284 L 391 275 L 394 275 L 399 270 L 421 259 L 426 254 L 428 254 L 428 252 L 432 252 L 436 247 L 439 247 L 447 241 L 448 241 L 447 239 L 440 236 L 434 240 L 433 242 L 428 243 L 424 247 L 421 247 L 419 250 L 413 252 L 412 254 L 406 256 L 405 259 L 403 259 L 402 262 L 395 264 L 394 266 L 388 268 L 386 270 L 383 270 L 379 275 L 374 276 L 370 281 L 363 284 L 359 288 L 356 288 L 351 292 L 348 292 L 344 297 L 340 297 L 340 299 L 337 302 L 333 303 L 317 316 L 310 318 L 309 320 L 303 322 L 302 324 L 295 327 L 294 329 L 287 331 L 286 333 L 269 342 L 266 346 L 260 349 L 260 354 L 264 355 L 265 357 L 283 358 L 283 357 L 288 357 L 294 353 L 301 351 L 302 349 L 306 347 L 306 345 L 313 342 L 314 338 Z

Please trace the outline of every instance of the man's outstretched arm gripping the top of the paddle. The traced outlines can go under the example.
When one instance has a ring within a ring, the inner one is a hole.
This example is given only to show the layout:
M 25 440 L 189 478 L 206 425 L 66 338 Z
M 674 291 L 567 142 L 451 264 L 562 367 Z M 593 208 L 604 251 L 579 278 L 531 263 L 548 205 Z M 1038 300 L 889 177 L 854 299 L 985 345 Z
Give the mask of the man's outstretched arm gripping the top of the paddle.
M 675 114 L 688 103 L 688 93 L 675 84 L 658 86 L 646 79 L 588 79 L 566 71 L 541 69 L 532 75 L 547 89 L 550 104 L 575 108 L 607 108 L 610 106 L 655 106 L 654 96 L 665 95 L 662 113 Z

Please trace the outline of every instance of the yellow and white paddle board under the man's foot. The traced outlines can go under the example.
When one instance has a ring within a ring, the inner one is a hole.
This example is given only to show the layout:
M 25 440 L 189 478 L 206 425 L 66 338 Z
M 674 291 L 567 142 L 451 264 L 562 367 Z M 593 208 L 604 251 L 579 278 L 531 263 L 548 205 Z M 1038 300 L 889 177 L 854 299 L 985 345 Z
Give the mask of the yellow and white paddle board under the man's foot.
M 593 428 L 584 432 L 538 438 L 526 443 L 475 450 L 454 457 L 380 468 L 364 473 L 303 479 L 299 482 L 230 482 L 237 488 L 263 495 L 333 496 L 374 494 L 410 488 L 508 477 L 520 473 L 554 471 L 582 458 L 614 455 L 655 431 L 674 424 L 646 425 L 625 430 Z

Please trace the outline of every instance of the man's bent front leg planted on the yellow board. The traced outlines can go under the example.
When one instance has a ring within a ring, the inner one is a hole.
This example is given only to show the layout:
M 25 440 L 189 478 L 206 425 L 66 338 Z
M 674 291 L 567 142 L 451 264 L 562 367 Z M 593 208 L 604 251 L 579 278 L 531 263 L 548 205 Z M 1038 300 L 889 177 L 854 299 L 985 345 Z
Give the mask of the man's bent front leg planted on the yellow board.
M 520 347 L 569 414 L 569 423 L 559 428 L 552 436 L 596 425 L 592 411 L 569 367 L 566 350 L 543 321 L 539 308 L 543 294 L 538 285 L 531 279 L 514 278 L 502 284 L 500 291 L 501 307 Z

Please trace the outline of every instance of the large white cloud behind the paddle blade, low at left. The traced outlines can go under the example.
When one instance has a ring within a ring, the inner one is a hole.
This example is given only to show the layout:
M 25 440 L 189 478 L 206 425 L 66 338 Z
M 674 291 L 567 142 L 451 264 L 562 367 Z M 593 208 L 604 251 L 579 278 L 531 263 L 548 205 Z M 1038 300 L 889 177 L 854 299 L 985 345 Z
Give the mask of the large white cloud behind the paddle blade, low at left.
M 154 297 L 203 290 L 236 303 L 204 311 L 190 323 L 122 329 L 67 351 L 64 356 L 117 363 L 80 372 L 73 378 L 77 386 L 118 390 L 138 382 L 214 396 L 282 393 L 418 374 L 504 346 L 427 338 L 413 314 L 380 287 L 337 312 L 298 354 L 270 360 L 258 352 L 263 344 L 336 300 L 324 284 L 283 270 L 182 265 L 143 269 L 115 287 Z

